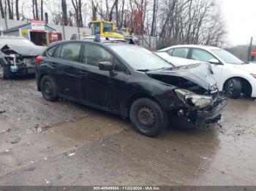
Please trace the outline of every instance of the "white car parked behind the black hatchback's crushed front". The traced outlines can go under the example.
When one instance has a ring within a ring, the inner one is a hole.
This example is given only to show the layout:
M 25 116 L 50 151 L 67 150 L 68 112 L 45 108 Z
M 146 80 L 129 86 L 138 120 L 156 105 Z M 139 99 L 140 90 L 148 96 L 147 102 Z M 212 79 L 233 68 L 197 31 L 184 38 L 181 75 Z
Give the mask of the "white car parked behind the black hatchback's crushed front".
M 219 90 L 227 97 L 239 98 L 241 93 L 256 97 L 256 64 L 244 63 L 226 50 L 200 45 L 178 45 L 156 53 L 174 66 L 202 61 L 211 63 Z

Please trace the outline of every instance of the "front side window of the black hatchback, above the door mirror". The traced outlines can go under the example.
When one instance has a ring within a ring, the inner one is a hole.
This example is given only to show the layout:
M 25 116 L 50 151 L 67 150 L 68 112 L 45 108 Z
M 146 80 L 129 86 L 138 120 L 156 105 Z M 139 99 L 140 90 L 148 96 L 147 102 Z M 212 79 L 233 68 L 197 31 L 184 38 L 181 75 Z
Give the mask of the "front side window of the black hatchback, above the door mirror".
M 86 44 L 83 52 L 83 63 L 99 66 L 100 62 L 113 63 L 113 56 L 107 50 L 94 44 Z

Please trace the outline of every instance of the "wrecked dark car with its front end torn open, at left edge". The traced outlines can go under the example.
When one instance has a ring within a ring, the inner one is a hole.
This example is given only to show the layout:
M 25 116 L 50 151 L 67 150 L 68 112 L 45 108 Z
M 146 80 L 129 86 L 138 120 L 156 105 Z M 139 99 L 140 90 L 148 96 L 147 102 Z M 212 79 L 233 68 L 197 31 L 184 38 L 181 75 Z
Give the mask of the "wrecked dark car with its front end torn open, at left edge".
M 0 79 L 34 74 L 35 58 L 45 49 L 23 37 L 0 36 Z

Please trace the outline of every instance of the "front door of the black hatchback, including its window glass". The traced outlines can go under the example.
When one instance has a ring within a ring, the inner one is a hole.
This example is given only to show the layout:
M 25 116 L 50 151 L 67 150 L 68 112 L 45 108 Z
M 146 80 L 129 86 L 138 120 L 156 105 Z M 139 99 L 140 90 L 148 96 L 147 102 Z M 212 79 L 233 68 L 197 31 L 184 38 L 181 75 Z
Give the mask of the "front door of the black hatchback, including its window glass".
M 85 44 L 82 61 L 84 64 L 83 71 L 88 74 L 82 78 L 81 92 L 83 101 L 87 101 L 105 109 L 118 110 L 120 104 L 124 77 L 126 74 L 110 75 L 110 71 L 99 70 L 99 62 L 110 62 L 113 69 L 125 72 L 125 67 L 117 64 L 116 58 L 96 44 Z

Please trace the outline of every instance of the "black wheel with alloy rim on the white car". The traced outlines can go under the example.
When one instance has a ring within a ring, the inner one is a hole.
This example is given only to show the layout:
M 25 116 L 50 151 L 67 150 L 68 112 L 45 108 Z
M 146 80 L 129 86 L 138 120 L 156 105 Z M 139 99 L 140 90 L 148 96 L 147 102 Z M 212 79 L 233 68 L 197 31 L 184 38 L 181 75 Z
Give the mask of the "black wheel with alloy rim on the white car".
M 240 79 L 228 79 L 224 85 L 224 93 L 228 98 L 240 98 L 240 95 L 242 93 L 242 85 Z

